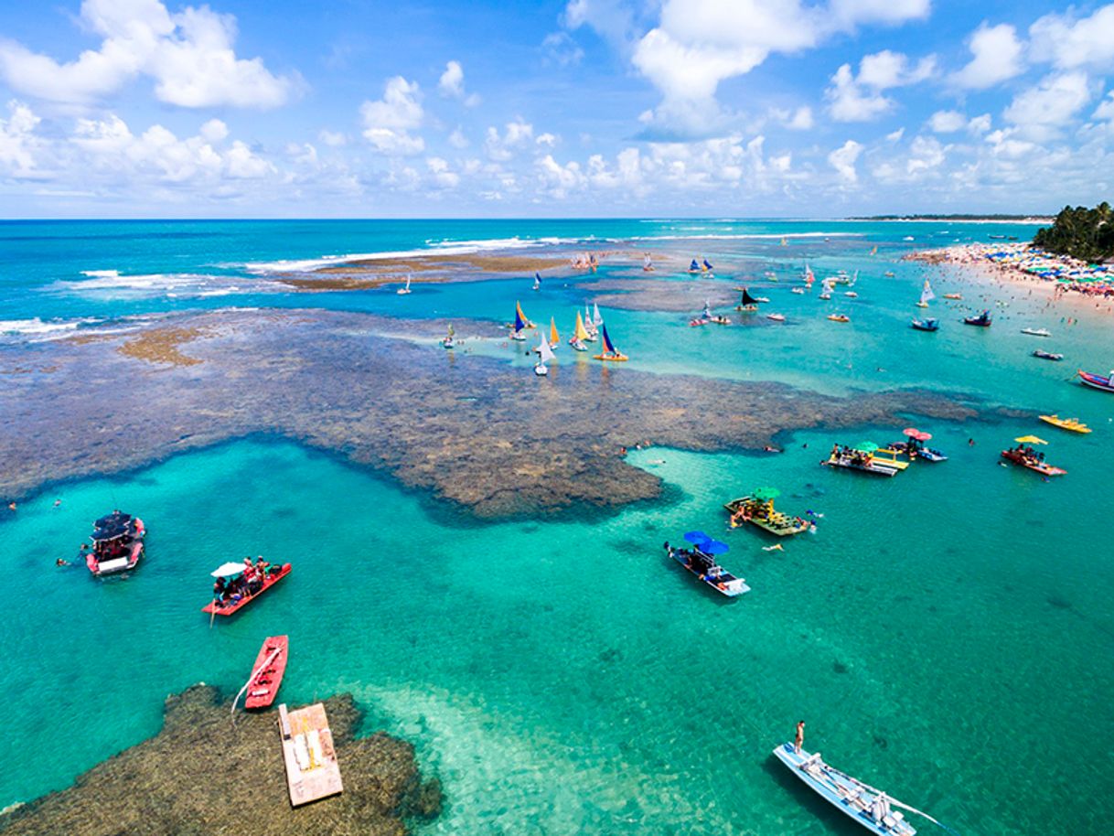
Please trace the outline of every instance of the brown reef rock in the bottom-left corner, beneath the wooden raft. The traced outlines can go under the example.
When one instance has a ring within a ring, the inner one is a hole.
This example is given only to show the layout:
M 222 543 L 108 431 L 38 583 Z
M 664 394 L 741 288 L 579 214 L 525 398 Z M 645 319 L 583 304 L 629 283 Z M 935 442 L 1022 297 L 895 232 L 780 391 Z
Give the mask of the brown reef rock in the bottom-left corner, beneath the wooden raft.
M 324 701 L 344 791 L 293 809 L 277 711 L 236 716 L 211 686 L 166 700 L 163 730 L 80 776 L 69 789 L 0 816 L 0 833 L 67 836 L 403 836 L 409 817 L 440 811 L 436 780 L 422 782 L 413 747 L 383 733 L 355 738 L 350 694 Z

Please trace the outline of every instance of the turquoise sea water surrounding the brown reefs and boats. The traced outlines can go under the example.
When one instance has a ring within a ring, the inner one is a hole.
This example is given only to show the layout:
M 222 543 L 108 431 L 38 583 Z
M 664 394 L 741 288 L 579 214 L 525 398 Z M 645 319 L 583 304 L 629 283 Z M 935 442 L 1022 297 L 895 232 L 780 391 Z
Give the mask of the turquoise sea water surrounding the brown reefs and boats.
M 784 324 L 690 329 L 686 314 L 605 311 L 631 368 L 663 375 L 663 386 L 671 373 L 706 377 L 709 409 L 717 380 L 743 379 L 832 395 L 961 392 L 993 418 L 911 418 L 951 458 L 895 479 L 818 461 L 833 441 L 892 440 L 900 426 L 784 435 L 780 456 L 634 450 L 629 460 L 665 482 L 663 499 L 584 521 L 478 523 L 275 438 L 52 485 L 0 515 L 9 613 L 0 704 L 9 751 L 20 754 L 19 768 L 0 770 L 0 807 L 60 789 L 155 733 L 168 693 L 202 680 L 234 691 L 263 636 L 289 633 L 285 701 L 351 690 L 369 729 L 413 741 L 427 774 L 441 778 L 447 806 L 423 833 L 857 833 L 773 761 L 799 719 L 807 748 L 959 833 L 1102 832 L 1114 816 L 1114 560 L 1104 531 L 1114 398 L 1067 378 L 1114 364 L 1107 315 L 1069 324 L 1074 311 L 1046 309 L 1027 286 L 899 261 L 915 247 L 1033 231 L 840 221 L 0 224 L 0 359 L 105 321 L 229 305 L 463 321 L 509 319 L 520 299 L 532 319 L 554 315 L 564 331 L 590 299 L 579 285 L 622 271 L 605 262 L 600 275 L 555 279 L 538 293 L 522 276 L 416 285 L 410 297 L 307 297 L 268 275 L 278 262 L 352 253 L 509 245 L 545 254 L 567 243 L 747 265 L 750 275 L 717 270 L 717 280 L 760 288 Z M 805 260 L 818 279 L 859 271 L 859 298 L 841 297 L 842 286 L 827 305 L 791 294 Z M 944 325 L 931 334 L 908 327 L 926 276 L 937 297 L 965 297 L 932 303 Z M 991 329 L 959 324 L 976 307 L 994 310 Z M 832 310 L 852 322 L 829 322 Z M 1030 324 L 1053 338 L 1019 332 Z M 1066 359 L 1034 360 L 1038 347 Z M 485 349 L 529 375 L 520 351 Z M 597 373 L 558 354 L 558 364 Z M 999 406 L 1078 416 L 1094 432 L 995 418 Z M 997 465 L 997 451 L 1029 432 L 1051 441 L 1048 459 L 1066 477 Z M 782 489 L 779 507 L 823 515 L 783 552 L 763 551 L 773 541 L 756 531 L 727 529 L 721 508 L 766 484 Z M 148 525 L 140 568 L 113 582 L 56 568 L 113 507 Z M 691 528 L 731 545 L 723 563 L 751 593 L 713 597 L 667 562 L 662 542 Z M 199 612 L 206 573 L 261 553 L 292 561 L 294 573 L 211 629 Z

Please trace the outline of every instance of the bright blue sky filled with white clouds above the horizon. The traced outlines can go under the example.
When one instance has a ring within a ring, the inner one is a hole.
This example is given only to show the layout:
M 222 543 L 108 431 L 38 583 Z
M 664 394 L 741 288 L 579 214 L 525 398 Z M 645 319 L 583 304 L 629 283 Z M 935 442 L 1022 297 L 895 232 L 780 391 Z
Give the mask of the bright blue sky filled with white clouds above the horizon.
M 838 217 L 1114 197 L 1114 3 L 0 3 L 0 217 Z

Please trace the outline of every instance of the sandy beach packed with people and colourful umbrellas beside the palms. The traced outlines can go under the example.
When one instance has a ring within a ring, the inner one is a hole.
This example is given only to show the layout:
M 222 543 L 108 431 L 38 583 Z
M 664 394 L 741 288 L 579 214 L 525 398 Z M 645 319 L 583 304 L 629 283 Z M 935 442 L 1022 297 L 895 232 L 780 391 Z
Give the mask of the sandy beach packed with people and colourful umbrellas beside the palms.
M 990 270 L 1004 279 L 1054 282 L 1059 293 L 1114 298 L 1114 263 L 1087 264 L 1068 255 L 1056 255 L 1030 244 L 961 244 L 908 256 L 929 264 L 961 264 Z

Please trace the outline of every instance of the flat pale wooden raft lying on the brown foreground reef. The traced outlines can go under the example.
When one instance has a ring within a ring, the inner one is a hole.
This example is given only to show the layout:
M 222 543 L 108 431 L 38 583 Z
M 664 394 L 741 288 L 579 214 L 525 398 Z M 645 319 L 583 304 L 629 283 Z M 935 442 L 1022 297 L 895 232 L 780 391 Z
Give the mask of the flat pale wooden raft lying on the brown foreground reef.
M 278 706 L 278 733 L 292 807 L 344 791 L 324 706 L 315 702 L 294 711 Z

